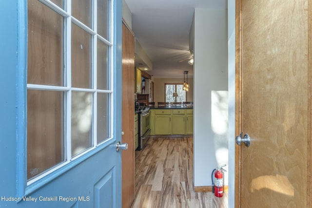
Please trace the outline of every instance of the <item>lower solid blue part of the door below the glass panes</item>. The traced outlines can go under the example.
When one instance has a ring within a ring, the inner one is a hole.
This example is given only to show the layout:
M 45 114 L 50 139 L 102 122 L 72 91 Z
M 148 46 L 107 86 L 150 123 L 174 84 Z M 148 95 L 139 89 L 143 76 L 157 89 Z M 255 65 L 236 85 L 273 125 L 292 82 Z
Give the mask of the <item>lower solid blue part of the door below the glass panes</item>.
M 17 201 L 1 201 L 10 208 L 93 208 L 115 207 L 116 154 L 115 141 L 108 150 L 99 151 L 41 189 Z M 121 155 L 121 154 L 118 154 Z M 121 158 L 117 158 L 119 160 Z M 104 175 L 104 176 L 103 176 Z M 118 196 L 118 194 L 117 194 Z M 7 196 L 9 197 L 9 196 Z M 30 200 L 30 201 L 28 201 Z

